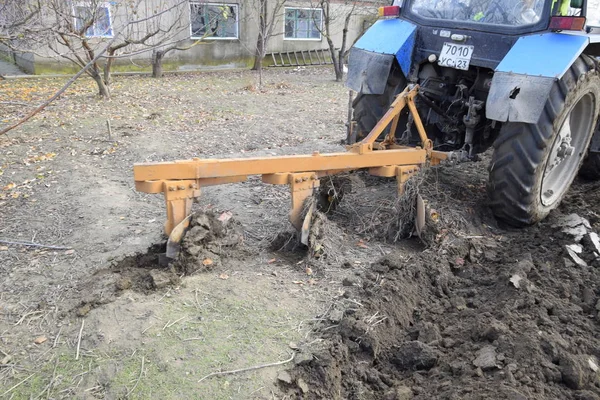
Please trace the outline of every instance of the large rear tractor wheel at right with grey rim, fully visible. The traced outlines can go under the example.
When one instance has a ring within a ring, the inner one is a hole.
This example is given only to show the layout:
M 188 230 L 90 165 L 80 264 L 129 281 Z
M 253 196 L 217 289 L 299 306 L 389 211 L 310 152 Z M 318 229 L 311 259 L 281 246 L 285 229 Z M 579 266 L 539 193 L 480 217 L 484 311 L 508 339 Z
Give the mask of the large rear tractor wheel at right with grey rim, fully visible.
M 558 206 L 587 153 L 599 108 L 600 76 L 581 56 L 550 91 L 537 124 L 503 125 L 489 167 L 496 217 L 521 227 Z

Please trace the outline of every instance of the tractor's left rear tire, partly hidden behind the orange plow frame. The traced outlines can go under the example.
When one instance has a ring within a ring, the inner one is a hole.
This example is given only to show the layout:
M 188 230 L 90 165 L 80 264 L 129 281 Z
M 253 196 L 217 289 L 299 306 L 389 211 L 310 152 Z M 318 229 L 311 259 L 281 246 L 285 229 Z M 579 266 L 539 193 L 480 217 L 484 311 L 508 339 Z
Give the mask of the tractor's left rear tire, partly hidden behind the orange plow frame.
M 382 94 L 359 93 L 352 102 L 355 135 L 353 135 L 354 138 L 348 138 L 347 144 L 353 144 L 365 138 L 387 112 L 396 95 L 405 87 L 406 78 L 400 67 L 394 63 Z

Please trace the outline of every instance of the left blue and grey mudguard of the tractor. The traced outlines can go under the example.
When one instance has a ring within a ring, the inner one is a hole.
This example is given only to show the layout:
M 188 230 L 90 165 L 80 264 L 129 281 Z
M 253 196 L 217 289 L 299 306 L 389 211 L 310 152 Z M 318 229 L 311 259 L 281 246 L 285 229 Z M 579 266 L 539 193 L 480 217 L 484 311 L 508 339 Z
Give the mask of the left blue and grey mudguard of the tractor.
M 394 58 L 408 76 L 416 33 L 416 25 L 401 19 L 375 22 L 350 50 L 346 86 L 360 93 L 382 94 Z

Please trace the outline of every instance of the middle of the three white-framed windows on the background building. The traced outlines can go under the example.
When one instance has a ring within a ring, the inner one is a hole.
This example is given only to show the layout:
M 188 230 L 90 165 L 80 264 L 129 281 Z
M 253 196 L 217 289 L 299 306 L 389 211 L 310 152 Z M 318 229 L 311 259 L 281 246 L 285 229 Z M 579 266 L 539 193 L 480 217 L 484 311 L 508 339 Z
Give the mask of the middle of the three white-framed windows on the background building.
M 237 4 L 190 3 L 192 39 L 238 38 Z

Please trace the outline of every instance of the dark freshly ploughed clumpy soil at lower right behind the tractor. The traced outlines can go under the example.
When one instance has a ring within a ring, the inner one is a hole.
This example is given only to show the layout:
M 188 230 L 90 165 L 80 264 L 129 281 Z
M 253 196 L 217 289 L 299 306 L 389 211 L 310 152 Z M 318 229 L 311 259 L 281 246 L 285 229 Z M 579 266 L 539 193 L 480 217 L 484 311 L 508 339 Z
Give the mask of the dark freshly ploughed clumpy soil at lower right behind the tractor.
M 436 172 L 439 197 L 428 200 L 439 213 L 437 245 L 393 252 L 344 280 L 318 319 L 325 342 L 290 371 L 289 392 L 600 398 L 598 186 L 578 184 L 546 221 L 510 230 L 490 220 L 481 176 L 464 172 Z

